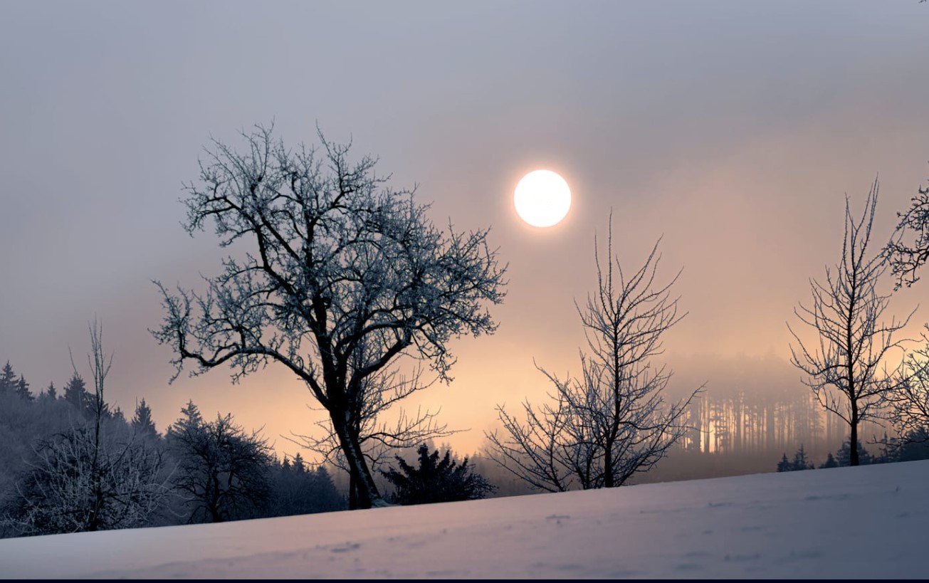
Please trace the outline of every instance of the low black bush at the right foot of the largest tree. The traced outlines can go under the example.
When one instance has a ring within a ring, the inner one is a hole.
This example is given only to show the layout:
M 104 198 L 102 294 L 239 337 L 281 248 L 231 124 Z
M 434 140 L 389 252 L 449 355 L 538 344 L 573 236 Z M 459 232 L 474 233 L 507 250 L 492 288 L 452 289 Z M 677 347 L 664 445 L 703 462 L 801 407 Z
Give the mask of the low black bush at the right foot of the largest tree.
M 394 486 L 391 499 L 402 505 L 455 502 L 486 498 L 494 486 L 468 466 L 467 458 L 459 465 L 451 459 L 451 450 L 438 459 L 438 449 L 429 453 L 429 447 L 417 449 L 419 466 L 395 456 L 399 470 L 389 468 L 381 473 Z

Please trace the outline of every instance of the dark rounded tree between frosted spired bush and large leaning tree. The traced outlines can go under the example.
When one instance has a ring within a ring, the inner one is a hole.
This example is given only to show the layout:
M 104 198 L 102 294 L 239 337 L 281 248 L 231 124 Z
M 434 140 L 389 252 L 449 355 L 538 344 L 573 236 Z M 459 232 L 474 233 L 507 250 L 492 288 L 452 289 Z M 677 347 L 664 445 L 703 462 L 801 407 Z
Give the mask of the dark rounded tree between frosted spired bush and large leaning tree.
M 264 512 L 273 462 L 268 442 L 258 432 L 246 434 L 231 414 L 217 413 L 209 422 L 193 421 L 190 411 L 185 416 L 166 439 L 177 460 L 174 486 L 190 505 L 189 522 L 220 523 Z

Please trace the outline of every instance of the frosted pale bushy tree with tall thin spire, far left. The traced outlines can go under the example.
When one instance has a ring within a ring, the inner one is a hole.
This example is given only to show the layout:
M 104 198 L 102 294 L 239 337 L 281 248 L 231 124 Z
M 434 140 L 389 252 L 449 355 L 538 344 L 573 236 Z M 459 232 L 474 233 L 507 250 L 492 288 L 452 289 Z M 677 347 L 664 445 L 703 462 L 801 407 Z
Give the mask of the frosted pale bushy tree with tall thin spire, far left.
M 35 447 L 7 514 L 24 535 L 145 525 L 167 493 L 161 451 L 135 434 L 120 434 L 107 416 L 103 390 L 112 355 L 103 350 L 102 325 L 95 320 L 89 328 L 92 417 Z

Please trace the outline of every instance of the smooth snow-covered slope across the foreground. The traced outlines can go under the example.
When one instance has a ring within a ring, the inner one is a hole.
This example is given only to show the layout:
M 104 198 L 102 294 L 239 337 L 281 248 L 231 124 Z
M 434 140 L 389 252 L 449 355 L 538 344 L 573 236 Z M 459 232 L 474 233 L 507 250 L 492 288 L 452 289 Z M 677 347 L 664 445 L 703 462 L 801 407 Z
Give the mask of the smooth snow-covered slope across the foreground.
M 929 461 L 0 540 L 0 577 L 926 577 Z

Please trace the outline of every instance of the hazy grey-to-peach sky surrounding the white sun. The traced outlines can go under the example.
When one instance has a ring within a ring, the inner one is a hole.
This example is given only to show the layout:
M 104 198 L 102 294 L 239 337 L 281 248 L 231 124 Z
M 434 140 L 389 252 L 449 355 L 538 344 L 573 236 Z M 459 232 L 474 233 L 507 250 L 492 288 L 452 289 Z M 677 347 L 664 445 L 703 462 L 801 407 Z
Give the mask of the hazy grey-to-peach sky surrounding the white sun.
M 624 265 L 663 234 L 663 274 L 685 268 L 672 368 L 786 358 L 785 321 L 839 257 L 845 193 L 857 212 L 880 175 L 883 240 L 929 177 L 927 31 L 917 0 L 2 2 L 0 361 L 33 391 L 60 387 L 96 314 L 109 400 L 131 414 L 144 396 L 164 430 L 193 398 L 293 453 L 280 435 L 318 414 L 291 375 L 169 386 L 171 354 L 147 331 L 162 317 L 150 280 L 196 287 L 222 256 L 180 227 L 181 183 L 210 136 L 272 120 L 290 145 L 317 123 L 351 136 L 394 186 L 418 183 L 438 223 L 492 226 L 509 263 L 500 329 L 454 343 L 455 381 L 412 403 L 471 428 L 450 440 L 465 452 L 495 404 L 544 394 L 533 358 L 577 371 L 573 300 L 595 285 L 610 209 Z M 556 227 L 513 209 L 537 168 L 574 193 Z

